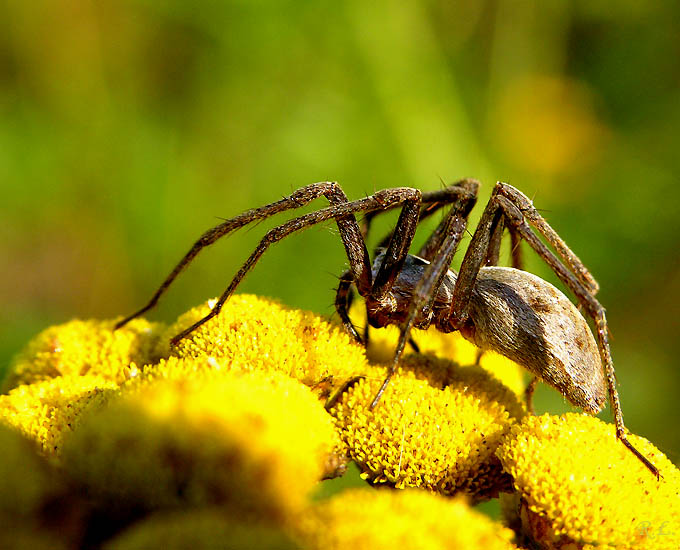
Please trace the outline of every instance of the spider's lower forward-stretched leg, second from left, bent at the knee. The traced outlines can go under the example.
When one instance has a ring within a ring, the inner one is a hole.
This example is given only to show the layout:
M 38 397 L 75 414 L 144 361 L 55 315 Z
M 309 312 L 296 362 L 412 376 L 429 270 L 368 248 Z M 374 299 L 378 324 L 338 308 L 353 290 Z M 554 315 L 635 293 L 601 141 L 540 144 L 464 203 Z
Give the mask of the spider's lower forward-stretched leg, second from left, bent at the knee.
M 334 184 L 337 186 L 337 184 Z M 338 187 L 339 189 L 339 187 Z M 344 197 L 344 193 L 343 193 Z M 351 216 L 354 219 L 354 214 L 358 212 L 366 212 L 371 210 L 383 209 L 390 207 L 395 204 L 403 203 L 406 200 L 413 198 L 419 198 L 420 191 L 417 189 L 411 189 L 409 187 L 395 187 L 391 189 L 383 189 L 377 193 L 365 197 L 363 199 L 347 202 L 337 202 L 327 208 L 317 210 L 315 212 L 310 212 L 304 214 L 297 218 L 287 221 L 286 223 L 270 229 L 265 236 L 262 238 L 260 243 L 257 245 L 255 251 L 248 257 L 245 263 L 238 270 L 231 283 L 227 289 L 219 297 L 215 305 L 213 306 L 210 313 L 205 317 L 188 327 L 187 329 L 180 332 L 171 340 L 171 344 L 176 344 L 179 340 L 187 336 L 189 333 L 193 332 L 195 329 L 200 327 L 202 324 L 208 320 L 215 317 L 224 303 L 229 299 L 231 294 L 234 292 L 239 283 L 243 280 L 246 274 L 253 268 L 257 261 L 262 257 L 262 254 L 269 248 L 270 245 L 280 241 L 281 239 L 287 237 L 288 235 L 306 229 L 317 223 L 321 223 L 327 220 L 335 219 L 340 222 L 342 220 L 347 220 Z M 337 199 L 339 201 L 339 199 Z M 352 224 L 353 225 L 353 224 Z M 368 294 L 369 290 L 365 288 L 365 282 L 370 281 L 371 270 L 370 263 L 368 262 L 368 253 L 364 246 L 363 238 L 361 238 L 361 232 L 359 231 L 358 224 L 356 225 L 356 232 L 350 233 L 348 237 L 347 225 L 338 223 L 340 229 L 340 235 L 345 245 L 345 250 L 350 259 L 350 270 L 352 271 L 352 277 L 354 284 L 357 286 L 357 290 L 360 293 L 365 292 Z M 354 237 L 358 237 L 357 240 L 352 240 Z M 357 258 L 361 258 L 365 253 L 366 261 L 356 261 Z

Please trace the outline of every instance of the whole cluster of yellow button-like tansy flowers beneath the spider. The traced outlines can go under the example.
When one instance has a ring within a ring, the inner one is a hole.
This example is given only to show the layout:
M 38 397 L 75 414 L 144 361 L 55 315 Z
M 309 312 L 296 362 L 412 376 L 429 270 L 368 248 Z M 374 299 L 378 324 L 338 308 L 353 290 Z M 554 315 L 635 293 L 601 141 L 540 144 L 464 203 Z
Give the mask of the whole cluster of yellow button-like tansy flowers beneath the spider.
M 364 349 L 240 295 L 170 346 L 212 305 L 170 326 L 71 321 L 17 354 L 0 395 L 0 547 L 680 546 L 680 472 L 660 451 L 630 436 L 657 480 L 612 426 L 527 413 L 521 369 L 459 335 L 415 331 L 419 353 L 371 409 L 394 329 Z M 364 486 L 333 489 L 343 475 Z M 498 497 L 502 521 L 474 509 Z

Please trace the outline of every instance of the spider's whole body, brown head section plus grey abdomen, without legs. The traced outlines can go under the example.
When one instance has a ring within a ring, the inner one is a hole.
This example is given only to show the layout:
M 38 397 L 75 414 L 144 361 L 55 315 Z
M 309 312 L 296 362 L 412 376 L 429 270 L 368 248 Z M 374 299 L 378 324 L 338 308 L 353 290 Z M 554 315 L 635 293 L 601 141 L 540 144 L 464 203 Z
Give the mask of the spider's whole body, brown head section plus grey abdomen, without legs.
M 384 259 L 375 259 L 373 277 Z M 418 282 L 430 262 L 407 255 L 391 291 L 380 302 L 368 301 L 371 326 L 403 323 Z M 454 330 L 449 322 L 457 275 L 449 270 L 439 285 L 432 310 L 416 312 L 414 326 L 431 324 Z M 590 413 L 606 401 L 606 386 L 595 338 L 585 319 L 561 291 L 540 277 L 510 267 L 483 267 L 473 287 L 465 338 L 522 365 Z

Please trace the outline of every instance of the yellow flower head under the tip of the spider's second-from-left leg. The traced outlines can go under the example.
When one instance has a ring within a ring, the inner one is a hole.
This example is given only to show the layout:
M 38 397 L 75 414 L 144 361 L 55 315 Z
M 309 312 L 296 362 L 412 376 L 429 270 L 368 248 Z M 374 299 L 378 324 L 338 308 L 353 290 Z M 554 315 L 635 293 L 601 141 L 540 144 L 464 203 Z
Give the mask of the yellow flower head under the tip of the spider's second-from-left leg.
M 245 294 L 232 296 L 219 315 L 176 347 L 169 346 L 173 336 L 207 315 L 213 305 L 211 300 L 180 316 L 162 337 L 159 354 L 234 360 L 253 370 L 284 372 L 307 386 L 325 386 L 327 381 L 339 385 L 365 370 L 363 348 L 342 327 L 314 313 Z

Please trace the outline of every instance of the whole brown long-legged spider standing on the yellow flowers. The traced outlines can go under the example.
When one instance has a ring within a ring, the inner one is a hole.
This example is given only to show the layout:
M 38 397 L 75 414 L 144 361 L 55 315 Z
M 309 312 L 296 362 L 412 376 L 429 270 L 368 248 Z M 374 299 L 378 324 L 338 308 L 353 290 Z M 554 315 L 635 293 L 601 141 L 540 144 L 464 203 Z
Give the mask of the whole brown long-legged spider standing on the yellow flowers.
M 335 299 L 336 310 L 346 330 L 357 342 L 365 343 L 367 333 L 362 338 L 348 314 L 352 287 L 365 300 L 371 326 L 394 324 L 400 328 L 394 359 L 371 408 L 378 404 L 394 375 L 406 343 L 411 342 L 415 347 L 410 339 L 412 328 L 425 329 L 434 325 L 442 332 L 460 331 L 481 350 L 494 350 L 533 374 L 526 390 L 529 407 L 539 380 L 555 387 L 572 404 L 590 414 L 602 410 L 608 393 L 617 438 L 658 478 L 658 469 L 626 437 L 605 310 L 595 298 L 599 285 L 534 208 L 532 201 L 511 185 L 497 183 L 459 272 L 450 269 L 466 230 L 467 217 L 477 201 L 478 189 L 476 180 L 464 179 L 432 192 L 395 187 L 350 201 L 335 182 L 301 187 L 281 200 L 243 212 L 206 231 L 149 302 L 120 321 L 116 328 L 154 307 L 179 273 L 206 246 L 247 224 L 299 208 L 324 196 L 330 206 L 295 217 L 269 230 L 210 313 L 177 334 L 171 343 L 176 344 L 216 316 L 271 244 L 296 231 L 335 220 L 349 260 L 349 269 L 340 277 Z M 395 208 L 401 208 L 397 224 L 383 239 L 371 263 L 365 243 L 371 220 Z M 418 254 L 409 254 L 418 224 L 442 208 L 447 208 L 448 212 L 441 222 Z M 356 219 L 359 213 L 365 215 L 363 227 Z M 513 267 L 497 265 L 505 229 L 512 240 Z M 580 307 L 593 322 L 597 341 L 584 317 L 562 292 L 521 269 L 519 243 L 522 239 L 577 298 Z

